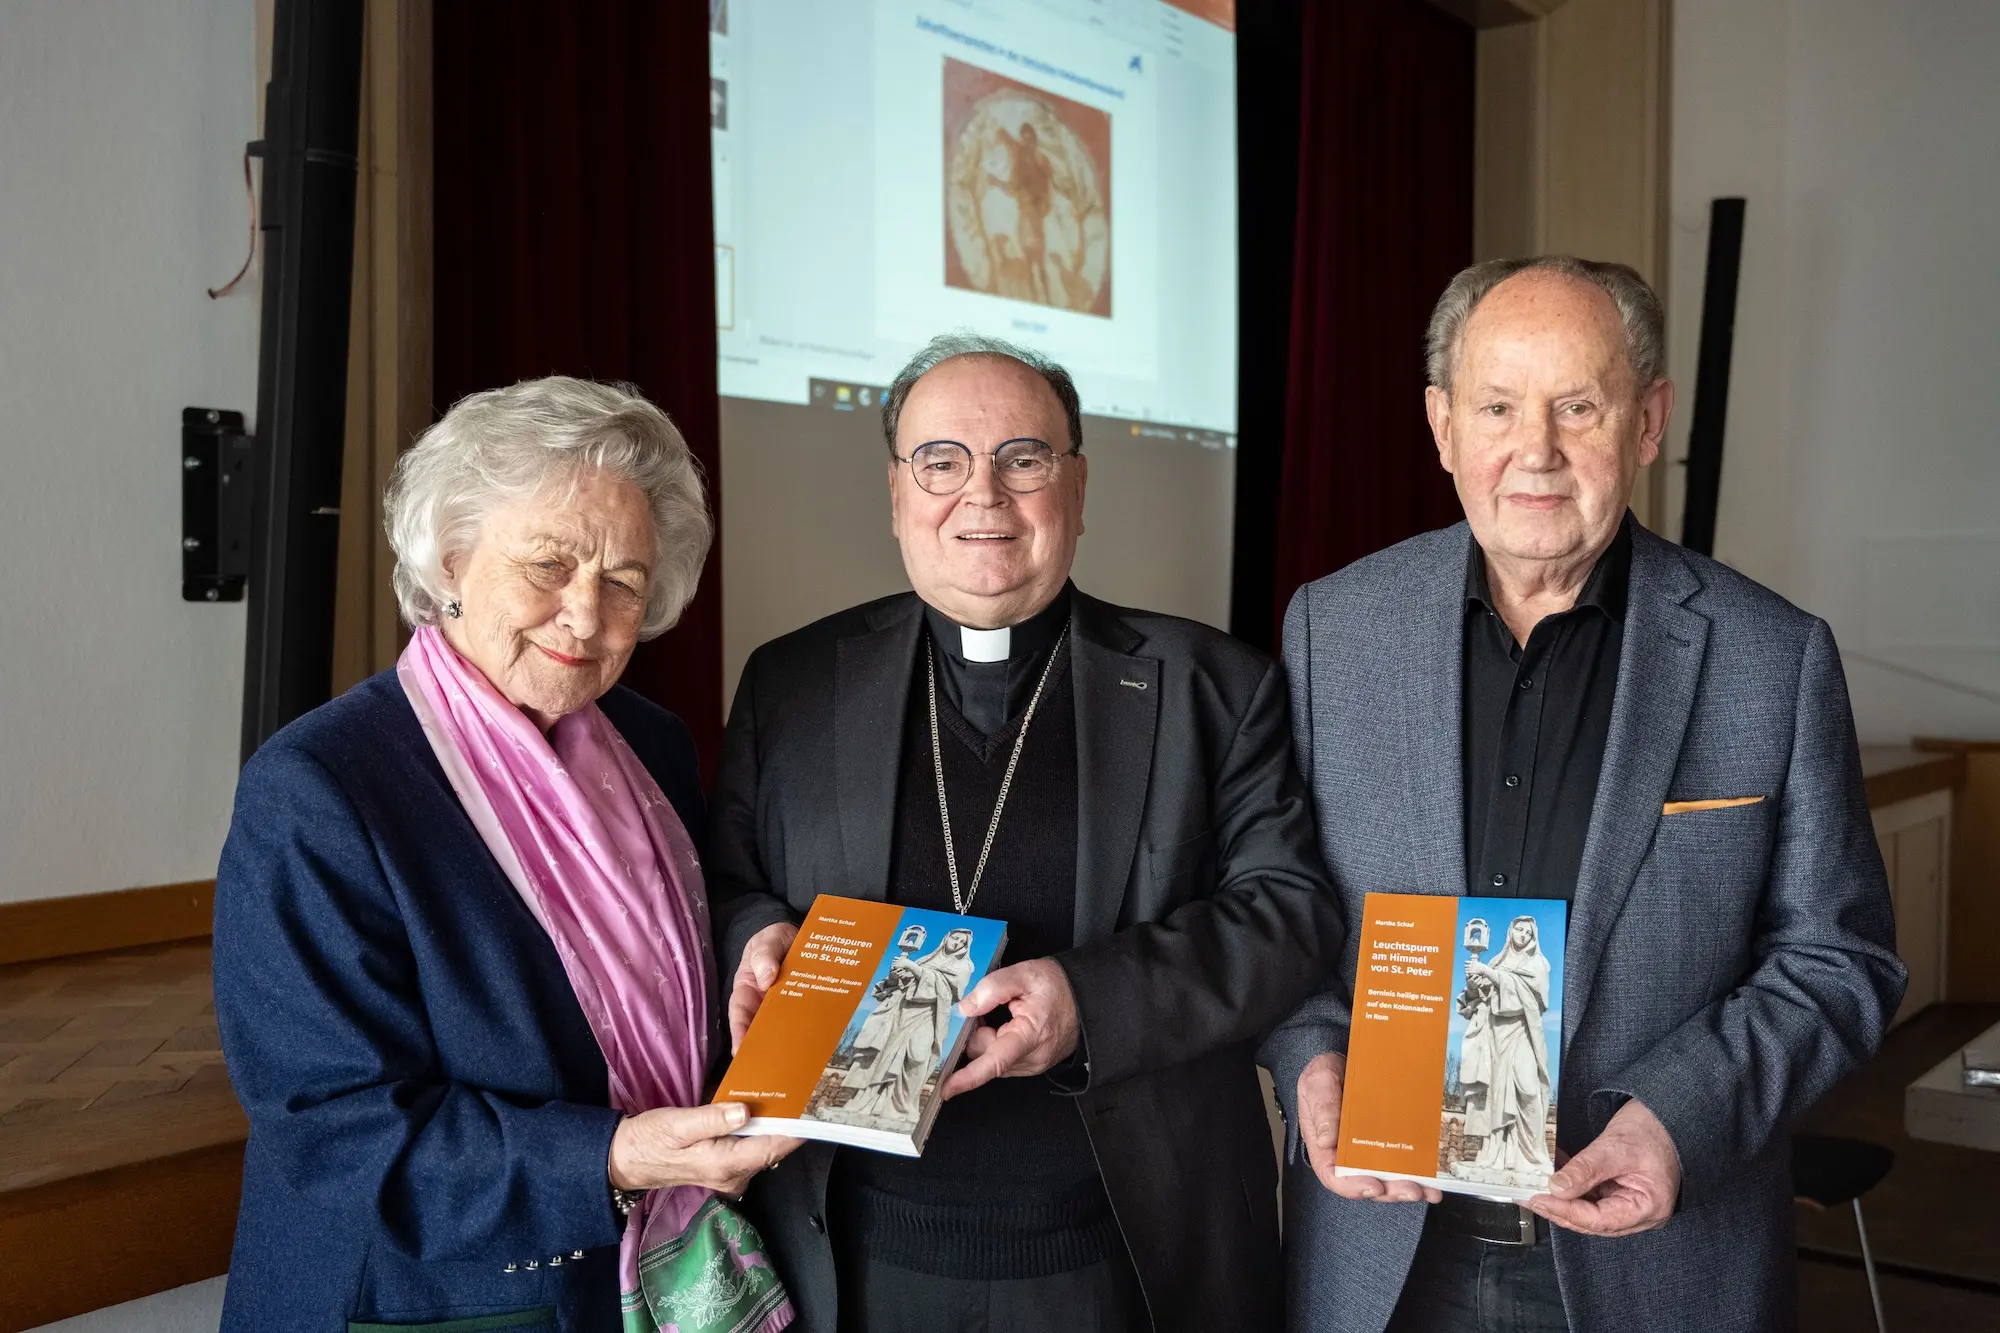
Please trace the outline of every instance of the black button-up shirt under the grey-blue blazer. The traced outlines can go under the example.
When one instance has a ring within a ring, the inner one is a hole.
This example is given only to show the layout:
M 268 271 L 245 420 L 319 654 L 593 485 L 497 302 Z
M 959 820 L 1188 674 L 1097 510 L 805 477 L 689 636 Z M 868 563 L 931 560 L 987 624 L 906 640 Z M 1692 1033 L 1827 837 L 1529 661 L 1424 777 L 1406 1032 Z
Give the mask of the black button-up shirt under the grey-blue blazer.
M 1576 606 L 1514 642 L 1494 610 L 1486 554 L 1466 558 L 1466 893 L 1574 899 L 1624 650 L 1632 516 Z

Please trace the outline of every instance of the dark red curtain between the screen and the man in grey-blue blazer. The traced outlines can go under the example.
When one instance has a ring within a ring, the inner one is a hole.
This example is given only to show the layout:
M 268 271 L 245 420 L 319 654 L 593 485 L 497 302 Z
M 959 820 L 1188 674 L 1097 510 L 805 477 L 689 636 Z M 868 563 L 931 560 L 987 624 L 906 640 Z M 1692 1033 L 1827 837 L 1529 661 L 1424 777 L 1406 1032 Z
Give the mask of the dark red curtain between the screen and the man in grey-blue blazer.
M 1274 604 L 1462 514 L 1424 424 L 1424 324 L 1472 260 L 1474 34 L 1420 0 L 1304 6 Z

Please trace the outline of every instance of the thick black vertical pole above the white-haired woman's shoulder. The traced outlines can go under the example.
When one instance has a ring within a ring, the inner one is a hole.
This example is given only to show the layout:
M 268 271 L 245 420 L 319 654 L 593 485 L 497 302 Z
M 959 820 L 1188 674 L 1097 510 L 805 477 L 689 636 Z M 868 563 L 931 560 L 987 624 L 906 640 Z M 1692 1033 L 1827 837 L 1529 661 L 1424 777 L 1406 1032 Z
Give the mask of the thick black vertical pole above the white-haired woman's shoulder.
M 332 695 L 362 0 L 276 0 L 242 755 Z

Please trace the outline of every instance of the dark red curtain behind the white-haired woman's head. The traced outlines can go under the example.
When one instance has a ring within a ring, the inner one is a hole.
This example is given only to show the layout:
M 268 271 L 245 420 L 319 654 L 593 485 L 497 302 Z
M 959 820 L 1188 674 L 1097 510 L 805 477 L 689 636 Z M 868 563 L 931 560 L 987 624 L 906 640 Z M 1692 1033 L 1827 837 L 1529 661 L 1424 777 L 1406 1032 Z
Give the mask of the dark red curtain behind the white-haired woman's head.
M 436 2 L 436 404 L 540 374 L 632 382 L 708 472 L 718 538 L 624 683 L 722 741 L 708 6 Z

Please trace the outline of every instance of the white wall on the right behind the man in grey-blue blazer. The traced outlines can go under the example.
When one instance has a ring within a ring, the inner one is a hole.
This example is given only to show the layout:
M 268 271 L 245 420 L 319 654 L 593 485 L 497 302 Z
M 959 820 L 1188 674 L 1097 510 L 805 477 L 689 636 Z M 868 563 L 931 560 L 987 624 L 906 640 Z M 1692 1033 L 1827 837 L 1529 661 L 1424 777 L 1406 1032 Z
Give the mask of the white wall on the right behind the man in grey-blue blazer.
M 1864 741 L 2000 737 L 1996 50 L 1994 0 L 1674 0 L 1672 454 L 1742 194 L 1716 554 L 1834 626 Z

